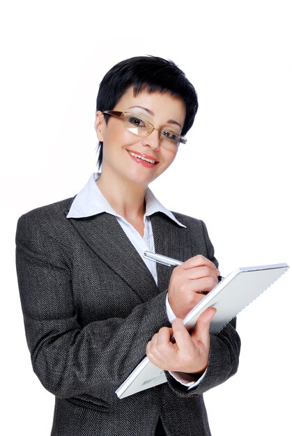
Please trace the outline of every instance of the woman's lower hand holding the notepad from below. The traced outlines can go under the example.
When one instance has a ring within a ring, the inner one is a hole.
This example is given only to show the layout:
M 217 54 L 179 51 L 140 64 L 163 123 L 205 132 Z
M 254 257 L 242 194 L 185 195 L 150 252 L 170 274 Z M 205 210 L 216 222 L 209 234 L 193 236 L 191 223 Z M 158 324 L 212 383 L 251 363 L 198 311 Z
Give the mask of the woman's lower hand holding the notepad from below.
M 179 318 L 172 323 L 172 329 L 162 327 L 147 344 L 148 359 L 164 371 L 203 373 L 208 365 L 209 327 L 215 312 L 214 307 L 206 309 L 191 333 Z M 175 343 L 171 342 L 171 334 L 174 334 Z

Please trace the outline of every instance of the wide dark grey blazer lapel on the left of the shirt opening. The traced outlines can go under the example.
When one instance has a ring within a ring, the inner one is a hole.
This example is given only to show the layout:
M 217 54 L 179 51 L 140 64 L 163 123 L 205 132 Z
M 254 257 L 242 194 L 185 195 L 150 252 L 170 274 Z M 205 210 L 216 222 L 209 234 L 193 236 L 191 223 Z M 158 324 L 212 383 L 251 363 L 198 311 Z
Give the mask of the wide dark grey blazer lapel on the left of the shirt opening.
M 116 217 L 101 213 L 69 220 L 94 253 L 132 288 L 142 302 L 159 293 L 151 272 Z

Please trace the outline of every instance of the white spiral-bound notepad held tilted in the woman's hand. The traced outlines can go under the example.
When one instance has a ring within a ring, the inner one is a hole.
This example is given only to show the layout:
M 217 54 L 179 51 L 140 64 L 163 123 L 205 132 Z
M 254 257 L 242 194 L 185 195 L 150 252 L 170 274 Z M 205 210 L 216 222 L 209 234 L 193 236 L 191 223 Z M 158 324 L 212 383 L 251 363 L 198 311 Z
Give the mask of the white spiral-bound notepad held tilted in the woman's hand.
M 232 318 L 288 269 L 286 263 L 237 268 L 194 306 L 183 320 L 185 327 L 188 330 L 193 329 L 201 313 L 212 306 L 215 307 L 216 313 L 210 323 L 210 333 L 219 333 Z M 164 371 L 151 364 L 148 357 L 145 357 L 118 387 L 116 395 L 118 398 L 125 398 L 166 381 Z

